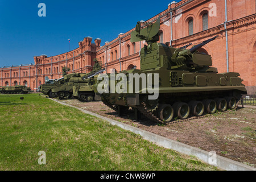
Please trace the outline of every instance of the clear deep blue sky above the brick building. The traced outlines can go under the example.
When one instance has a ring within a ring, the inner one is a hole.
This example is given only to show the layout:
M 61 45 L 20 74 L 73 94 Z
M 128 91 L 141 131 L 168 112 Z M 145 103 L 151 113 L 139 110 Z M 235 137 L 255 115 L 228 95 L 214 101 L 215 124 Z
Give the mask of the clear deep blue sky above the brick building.
M 39 3 L 46 17 L 39 17 Z M 55 56 L 79 47 L 86 36 L 101 46 L 118 34 L 167 9 L 171 1 L 0 1 L 0 67 L 34 63 L 34 56 Z M 179 2 L 179 1 L 176 1 Z

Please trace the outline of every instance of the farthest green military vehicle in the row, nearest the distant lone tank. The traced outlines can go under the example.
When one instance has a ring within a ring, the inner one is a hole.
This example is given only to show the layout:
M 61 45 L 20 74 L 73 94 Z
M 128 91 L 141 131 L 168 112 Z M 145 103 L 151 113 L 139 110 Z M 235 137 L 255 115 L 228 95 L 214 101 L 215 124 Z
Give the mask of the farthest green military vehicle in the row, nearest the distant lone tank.
M 62 69 L 63 77 L 61 77 L 59 79 L 49 79 L 49 77 L 46 76 L 44 79 L 44 84 L 39 86 L 39 92 L 42 92 L 43 94 L 48 95 L 50 98 L 57 97 L 57 94 L 52 92 L 52 88 L 54 86 L 64 84 L 65 82 L 68 81 L 68 80 L 64 80 L 64 76 L 67 75 L 67 71 L 69 71 L 69 70 L 70 69 L 63 67 L 63 69 Z

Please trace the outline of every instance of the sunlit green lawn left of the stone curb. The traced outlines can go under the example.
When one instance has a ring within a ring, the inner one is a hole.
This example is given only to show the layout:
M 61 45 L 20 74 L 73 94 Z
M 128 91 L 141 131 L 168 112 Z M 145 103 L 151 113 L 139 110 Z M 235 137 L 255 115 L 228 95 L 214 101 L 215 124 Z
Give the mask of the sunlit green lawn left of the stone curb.
M 23 96 L 24 100 L 19 98 Z M 38 164 L 39 151 L 46 165 Z M 0 170 L 216 170 L 38 94 L 0 95 Z

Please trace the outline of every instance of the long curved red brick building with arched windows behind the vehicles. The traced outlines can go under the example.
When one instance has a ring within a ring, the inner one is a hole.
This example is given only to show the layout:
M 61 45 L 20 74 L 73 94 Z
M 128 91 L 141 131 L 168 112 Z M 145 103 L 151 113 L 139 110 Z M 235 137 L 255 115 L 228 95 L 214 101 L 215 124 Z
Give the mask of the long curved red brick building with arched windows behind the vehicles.
M 159 4 L 159 6 L 164 6 Z M 256 1 L 255 0 L 183 0 L 175 1 L 167 9 L 143 24 L 154 22 L 160 15 L 160 42 L 173 47 L 198 44 L 218 35 L 213 42 L 200 49 L 209 53 L 218 72 L 238 72 L 249 94 L 256 92 Z M 134 26 L 138 21 L 134 20 Z M 133 27 L 131 27 L 133 28 Z M 140 68 L 139 51 L 144 42 L 130 42 L 134 28 L 119 34 L 111 42 L 100 46 L 101 39 L 86 37 L 79 47 L 61 55 L 35 56 L 35 64 L 0 68 L 0 85 L 28 85 L 36 88 L 44 78 L 62 77 L 62 67 L 70 72 L 89 72 L 97 57 L 110 72 Z

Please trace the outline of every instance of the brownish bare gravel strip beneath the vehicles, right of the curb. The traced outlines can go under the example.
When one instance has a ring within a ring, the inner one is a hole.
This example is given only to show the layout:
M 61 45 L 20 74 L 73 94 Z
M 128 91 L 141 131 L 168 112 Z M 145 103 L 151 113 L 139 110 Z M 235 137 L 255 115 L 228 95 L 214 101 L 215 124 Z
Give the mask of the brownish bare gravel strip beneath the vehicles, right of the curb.
M 205 115 L 203 118 L 158 125 L 144 117 L 141 121 L 135 121 L 132 111 L 119 117 L 116 111 L 103 102 L 60 101 L 205 151 L 215 151 L 217 155 L 256 167 L 255 108 L 238 107 L 237 110 Z

